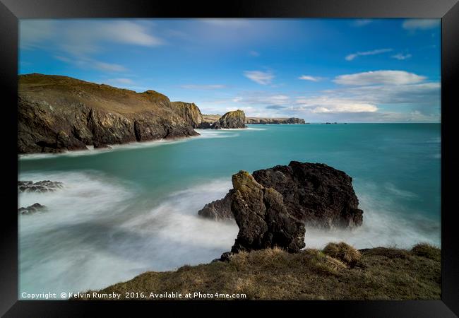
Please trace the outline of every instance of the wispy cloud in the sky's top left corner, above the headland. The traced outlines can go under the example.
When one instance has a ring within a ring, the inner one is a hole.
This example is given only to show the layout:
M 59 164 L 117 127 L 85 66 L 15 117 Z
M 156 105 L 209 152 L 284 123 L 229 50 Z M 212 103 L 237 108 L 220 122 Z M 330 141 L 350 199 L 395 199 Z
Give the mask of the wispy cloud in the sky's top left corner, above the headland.
M 155 47 L 165 42 L 152 32 L 152 23 L 132 20 L 21 20 L 20 47 L 52 48 L 54 57 L 83 69 L 126 71 L 117 63 L 95 59 L 107 44 Z

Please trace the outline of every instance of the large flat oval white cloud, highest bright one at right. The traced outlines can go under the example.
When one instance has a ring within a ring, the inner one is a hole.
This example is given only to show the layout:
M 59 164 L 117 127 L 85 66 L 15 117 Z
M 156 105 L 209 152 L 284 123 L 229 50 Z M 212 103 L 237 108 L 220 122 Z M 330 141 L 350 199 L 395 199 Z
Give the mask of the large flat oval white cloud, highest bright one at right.
M 368 71 L 363 73 L 354 73 L 336 76 L 333 80 L 335 83 L 341 85 L 400 85 L 400 84 L 413 84 L 419 83 L 426 79 L 425 76 L 419 76 L 415 73 L 408 73 L 407 71 Z

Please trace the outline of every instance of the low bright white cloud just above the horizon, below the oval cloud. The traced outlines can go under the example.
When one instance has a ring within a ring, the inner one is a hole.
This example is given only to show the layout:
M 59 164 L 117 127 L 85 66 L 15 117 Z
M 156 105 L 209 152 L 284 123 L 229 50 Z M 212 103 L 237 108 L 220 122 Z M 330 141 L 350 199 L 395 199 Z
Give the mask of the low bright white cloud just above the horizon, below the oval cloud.
M 378 107 L 368 102 L 345 98 L 330 98 L 318 96 L 296 100 L 297 106 L 291 110 L 309 110 L 313 113 L 342 113 L 342 112 L 376 112 Z

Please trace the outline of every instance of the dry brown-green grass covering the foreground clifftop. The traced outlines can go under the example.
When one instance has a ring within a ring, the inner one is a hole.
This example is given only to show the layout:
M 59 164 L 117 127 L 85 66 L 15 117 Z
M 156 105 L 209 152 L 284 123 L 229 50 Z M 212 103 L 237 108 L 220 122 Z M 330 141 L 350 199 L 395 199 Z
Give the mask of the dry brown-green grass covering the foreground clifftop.
M 121 293 L 121 298 L 126 292 L 174 291 L 245 293 L 249 300 L 440 299 L 440 254 L 429 245 L 411 251 L 378 247 L 359 252 L 333 243 L 323 251 L 296 254 L 263 249 L 235 254 L 226 262 L 143 273 L 101 292 Z

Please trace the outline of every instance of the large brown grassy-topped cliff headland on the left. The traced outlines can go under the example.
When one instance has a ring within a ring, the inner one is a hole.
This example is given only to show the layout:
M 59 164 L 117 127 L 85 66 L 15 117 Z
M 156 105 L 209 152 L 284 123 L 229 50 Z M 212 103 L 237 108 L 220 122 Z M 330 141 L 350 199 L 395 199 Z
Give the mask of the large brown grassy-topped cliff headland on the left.
M 198 120 L 196 105 L 172 104 L 154 90 L 136 93 L 66 76 L 19 76 L 18 153 L 198 135 L 189 120 Z

